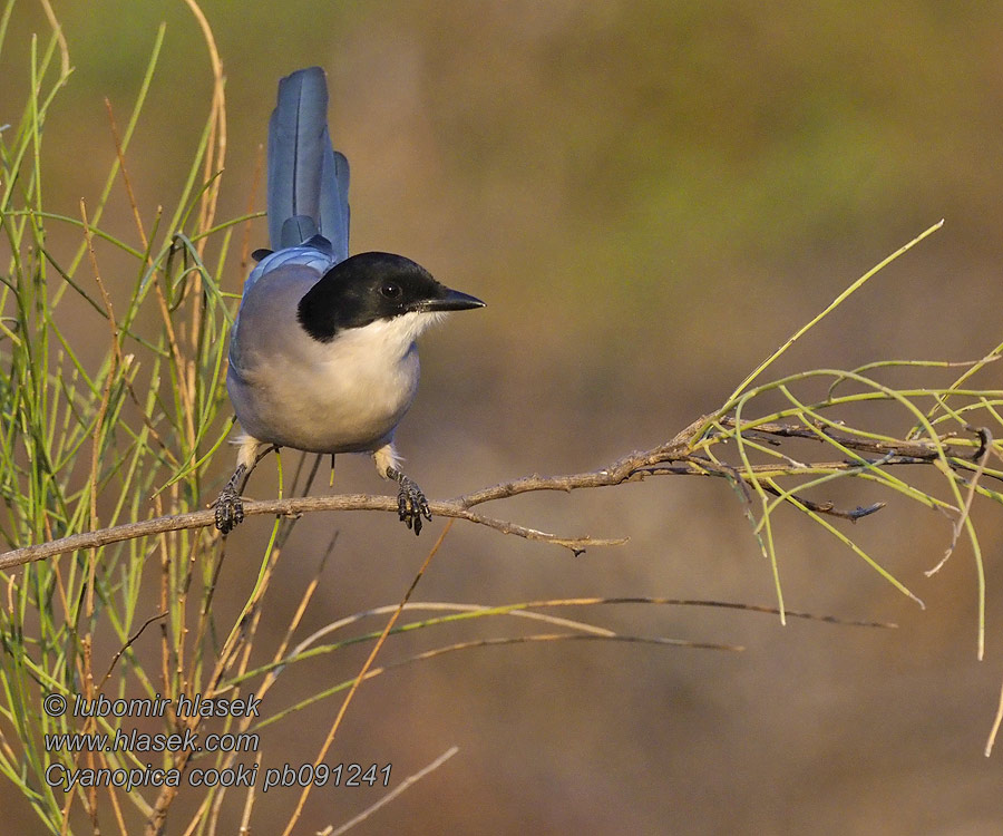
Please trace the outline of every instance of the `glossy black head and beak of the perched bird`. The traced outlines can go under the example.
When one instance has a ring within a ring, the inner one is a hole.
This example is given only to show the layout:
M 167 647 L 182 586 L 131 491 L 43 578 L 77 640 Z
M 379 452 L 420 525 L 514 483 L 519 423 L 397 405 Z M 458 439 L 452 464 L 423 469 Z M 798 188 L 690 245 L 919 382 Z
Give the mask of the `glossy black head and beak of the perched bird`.
M 331 268 L 300 300 L 300 324 L 330 342 L 339 331 L 406 313 L 462 311 L 484 302 L 450 290 L 420 264 L 392 253 L 360 253 Z

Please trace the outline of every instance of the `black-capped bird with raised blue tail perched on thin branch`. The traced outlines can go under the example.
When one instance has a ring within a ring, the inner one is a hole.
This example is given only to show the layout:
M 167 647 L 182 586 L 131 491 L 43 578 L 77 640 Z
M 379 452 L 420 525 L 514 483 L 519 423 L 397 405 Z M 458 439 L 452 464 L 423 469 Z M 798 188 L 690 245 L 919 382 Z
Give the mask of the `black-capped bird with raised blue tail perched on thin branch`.
M 418 389 L 417 339 L 447 312 L 483 308 L 402 255 L 349 255 L 349 164 L 328 128 L 324 70 L 282 78 L 269 123 L 270 250 L 257 250 L 230 336 L 226 389 L 242 434 L 233 476 L 213 504 L 225 536 L 261 457 L 369 453 L 398 485 L 398 515 L 431 519 L 393 444 Z

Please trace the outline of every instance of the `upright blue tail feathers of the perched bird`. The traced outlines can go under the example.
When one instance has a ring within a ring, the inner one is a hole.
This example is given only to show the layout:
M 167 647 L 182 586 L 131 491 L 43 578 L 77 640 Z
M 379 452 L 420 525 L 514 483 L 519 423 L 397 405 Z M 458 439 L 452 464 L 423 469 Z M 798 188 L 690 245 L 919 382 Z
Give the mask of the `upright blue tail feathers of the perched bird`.
M 273 250 L 313 235 L 331 242 L 335 261 L 348 257 L 349 166 L 331 147 L 328 84 L 320 67 L 279 82 L 269 124 L 269 237 Z

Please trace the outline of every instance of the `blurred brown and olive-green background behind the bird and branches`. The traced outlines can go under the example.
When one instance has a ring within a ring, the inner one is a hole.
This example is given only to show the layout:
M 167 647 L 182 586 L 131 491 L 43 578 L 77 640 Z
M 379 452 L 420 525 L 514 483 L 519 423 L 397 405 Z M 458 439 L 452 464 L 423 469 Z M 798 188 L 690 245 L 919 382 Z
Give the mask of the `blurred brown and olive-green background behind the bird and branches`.
M 942 217 L 942 231 L 776 372 L 972 360 L 1003 340 L 1003 6 L 202 6 L 226 75 L 218 217 L 246 210 L 279 77 L 317 64 L 328 71 L 334 143 L 352 165 L 352 250 L 407 254 L 488 303 L 423 338 L 421 391 L 398 445 L 430 497 L 594 469 L 666 440 Z M 75 216 L 81 197 L 97 198 L 115 156 L 104 98 L 125 121 L 167 22 L 127 159 L 149 222 L 179 193 L 208 113 L 212 74 L 197 25 L 182 2 L 68 0 L 56 11 L 76 69 L 46 126 L 45 191 L 51 210 Z M 31 32 L 48 37 L 49 27 L 22 0 L 3 61 L 20 75 L 2 81 L 0 124 L 16 123 L 22 106 Z M 9 107 L 17 111 L 4 115 Z M 261 186 L 255 207 L 264 207 Z M 105 225 L 135 240 L 124 195 L 114 208 Z M 265 244 L 256 221 L 252 246 Z M 228 289 L 243 278 L 234 262 Z M 1001 388 L 1001 373 L 978 382 Z M 230 451 L 218 459 L 222 483 Z M 368 459 L 342 459 L 337 489 L 387 490 Z M 249 493 L 274 489 L 267 461 Z M 889 499 L 857 486 L 848 497 Z M 769 565 L 723 483 L 664 478 L 485 512 L 631 541 L 573 557 L 457 524 L 417 600 L 775 603 Z M 452 745 L 459 754 L 356 832 L 1000 833 L 1003 756 L 986 759 L 983 747 L 1003 677 L 1003 515 L 987 503 L 975 513 L 989 577 L 985 661 L 975 658 L 971 550 L 924 575 L 950 543 L 944 517 L 896 497 L 851 531 L 924 599 L 921 611 L 835 538 L 781 513 L 773 526 L 788 606 L 899 629 L 611 606 L 574 615 L 747 650 L 519 645 L 389 672 L 360 691 L 328 760 L 390 761 L 397 781 Z M 221 613 L 246 596 L 270 526 L 250 519 L 230 538 L 221 586 L 233 595 L 217 596 Z M 273 590 L 276 635 L 335 527 L 303 634 L 396 603 L 441 526 L 416 541 L 386 515 L 304 519 Z M 393 639 L 379 661 L 520 630 L 480 621 Z M 351 677 L 366 652 L 300 665 L 269 708 Z M 338 704 L 273 727 L 264 766 L 311 760 Z M 380 794 L 315 790 L 302 832 L 345 820 Z M 292 801 L 275 794 L 276 809 Z M 256 832 L 272 832 L 257 811 Z M 240 810 L 226 815 L 236 823 Z

